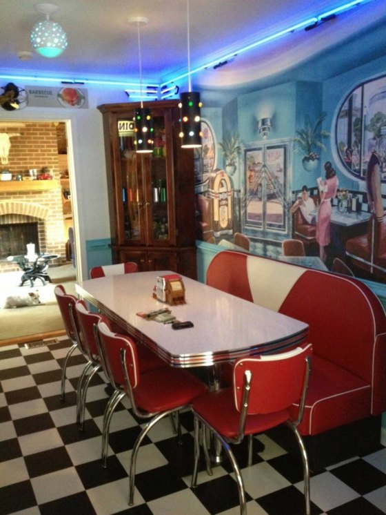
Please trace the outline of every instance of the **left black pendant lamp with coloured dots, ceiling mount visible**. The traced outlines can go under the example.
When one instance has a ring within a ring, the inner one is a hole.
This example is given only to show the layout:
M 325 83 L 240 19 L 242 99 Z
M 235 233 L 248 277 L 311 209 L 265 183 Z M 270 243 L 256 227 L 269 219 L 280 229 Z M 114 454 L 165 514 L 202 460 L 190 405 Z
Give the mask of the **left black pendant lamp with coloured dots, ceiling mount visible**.
M 138 31 L 138 54 L 139 54 L 139 90 L 141 95 L 141 107 L 134 113 L 134 146 L 136 153 L 149 154 L 153 151 L 153 120 L 150 109 L 143 107 L 142 91 L 142 61 L 141 61 L 141 35 L 140 26 L 148 23 L 148 18 L 130 18 L 130 23 L 136 23 Z

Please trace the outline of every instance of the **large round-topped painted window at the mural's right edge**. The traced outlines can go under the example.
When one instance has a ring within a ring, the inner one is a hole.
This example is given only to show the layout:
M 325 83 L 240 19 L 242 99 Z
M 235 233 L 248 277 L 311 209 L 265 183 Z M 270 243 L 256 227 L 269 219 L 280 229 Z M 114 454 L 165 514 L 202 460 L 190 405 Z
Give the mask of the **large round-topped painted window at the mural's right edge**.
M 349 93 L 336 119 L 336 146 L 345 169 L 354 177 L 365 177 L 373 150 L 386 162 L 386 76 Z

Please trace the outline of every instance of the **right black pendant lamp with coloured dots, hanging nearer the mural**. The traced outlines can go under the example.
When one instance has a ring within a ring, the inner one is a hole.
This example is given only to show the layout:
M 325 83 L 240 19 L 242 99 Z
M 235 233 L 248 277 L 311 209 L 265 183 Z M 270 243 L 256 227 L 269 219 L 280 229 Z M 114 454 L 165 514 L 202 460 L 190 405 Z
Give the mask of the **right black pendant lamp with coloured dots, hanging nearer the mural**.
M 189 0 L 187 6 L 187 79 L 189 91 L 180 94 L 180 115 L 181 115 L 181 147 L 199 148 L 201 144 L 201 100 L 200 94 L 192 91 L 192 80 L 190 78 L 190 20 Z

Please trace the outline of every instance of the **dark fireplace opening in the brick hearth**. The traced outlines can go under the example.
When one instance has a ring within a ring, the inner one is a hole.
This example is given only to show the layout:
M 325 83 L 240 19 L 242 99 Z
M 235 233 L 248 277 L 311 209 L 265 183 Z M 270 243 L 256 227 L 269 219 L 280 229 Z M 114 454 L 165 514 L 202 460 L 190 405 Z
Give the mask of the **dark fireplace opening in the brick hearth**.
M 26 255 L 27 244 L 35 244 L 35 252 L 39 253 L 38 222 L 0 225 L 0 258 L 9 255 Z

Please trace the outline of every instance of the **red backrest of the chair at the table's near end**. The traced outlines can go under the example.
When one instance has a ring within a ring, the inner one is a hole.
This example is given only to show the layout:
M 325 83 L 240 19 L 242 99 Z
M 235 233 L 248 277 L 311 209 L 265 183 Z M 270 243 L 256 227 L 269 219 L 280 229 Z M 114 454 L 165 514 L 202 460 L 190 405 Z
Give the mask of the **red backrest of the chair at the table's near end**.
M 312 344 L 281 354 L 242 358 L 234 364 L 236 409 L 241 410 L 244 373 L 252 373 L 247 414 L 267 414 L 291 407 L 301 400 Z

